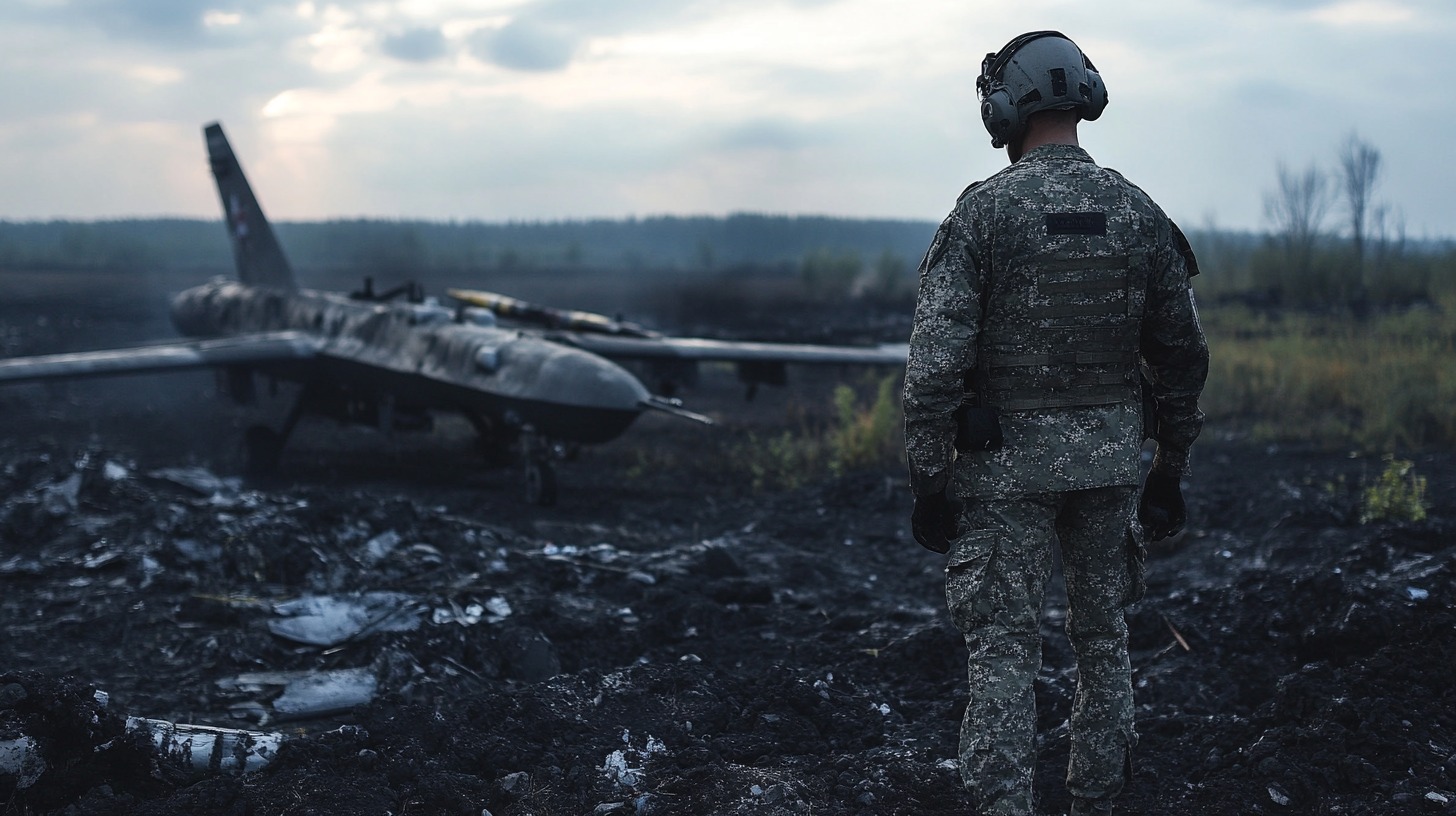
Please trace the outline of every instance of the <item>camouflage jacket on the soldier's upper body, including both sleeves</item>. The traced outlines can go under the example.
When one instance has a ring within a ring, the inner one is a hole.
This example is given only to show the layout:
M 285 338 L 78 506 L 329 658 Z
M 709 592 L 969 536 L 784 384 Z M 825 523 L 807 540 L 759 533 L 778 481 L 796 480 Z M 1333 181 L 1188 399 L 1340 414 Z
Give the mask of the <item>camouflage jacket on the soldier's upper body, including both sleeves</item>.
M 1208 348 L 1178 227 L 1080 147 L 1048 144 L 957 201 L 920 265 L 906 372 L 916 495 L 1006 497 L 1137 482 L 1139 367 L 1153 468 L 1184 475 Z M 999 414 L 997 450 L 957 455 L 964 401 Z

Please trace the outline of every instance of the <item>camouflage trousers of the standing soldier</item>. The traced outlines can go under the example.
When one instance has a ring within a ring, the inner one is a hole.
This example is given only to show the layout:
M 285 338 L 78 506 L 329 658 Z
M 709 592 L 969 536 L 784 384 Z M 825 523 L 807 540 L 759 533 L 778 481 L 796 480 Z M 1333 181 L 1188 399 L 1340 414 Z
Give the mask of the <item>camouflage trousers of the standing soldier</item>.
M 1032 813 L 1041 605 L 1060 544 L 1067 638 L 1077 660 L 1072 796 L 1112 797 L 1131 774 L 1131 667 L 1123 609 L 1142 596 L 1137 490 L 1107 487 L 973 500 L 951 544 L 945 596 L 970 648 L 961 777 L 980 813 Z

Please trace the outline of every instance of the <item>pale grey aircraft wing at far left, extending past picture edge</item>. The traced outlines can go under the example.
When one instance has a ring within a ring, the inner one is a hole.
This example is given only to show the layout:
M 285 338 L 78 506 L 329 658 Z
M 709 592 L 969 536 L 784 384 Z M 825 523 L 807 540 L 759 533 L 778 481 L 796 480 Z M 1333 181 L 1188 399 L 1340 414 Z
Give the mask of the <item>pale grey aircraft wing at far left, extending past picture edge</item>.
M 317 353 L 317 341 L 303 332 L 250 334 L 103 351 L 12 357 L 0 360 L 0 383 L 280 363 L 309 360 Z

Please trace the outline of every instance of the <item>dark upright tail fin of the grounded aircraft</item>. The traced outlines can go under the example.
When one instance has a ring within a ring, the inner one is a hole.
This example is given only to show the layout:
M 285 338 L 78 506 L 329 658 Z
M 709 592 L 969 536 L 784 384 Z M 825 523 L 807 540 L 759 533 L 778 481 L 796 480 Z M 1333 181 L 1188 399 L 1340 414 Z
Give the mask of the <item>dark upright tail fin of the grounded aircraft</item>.
M 233 147 L 223 136 L 223 125 L 213 122 L 202 128 L 207 138 L 207 157 L 213 165 L 213 179 L 223 200 L 223 217 L 227 221 L 227 238 L 233 243 L 233 261 L 237 264 L 237 280 L 249 286 L 297 290 L 293 267 L 282 254 L 282 246 L 274 236 L 272 226 L 264 217 L 264 210 L 253 197 L 243 166 L 237 163 Z

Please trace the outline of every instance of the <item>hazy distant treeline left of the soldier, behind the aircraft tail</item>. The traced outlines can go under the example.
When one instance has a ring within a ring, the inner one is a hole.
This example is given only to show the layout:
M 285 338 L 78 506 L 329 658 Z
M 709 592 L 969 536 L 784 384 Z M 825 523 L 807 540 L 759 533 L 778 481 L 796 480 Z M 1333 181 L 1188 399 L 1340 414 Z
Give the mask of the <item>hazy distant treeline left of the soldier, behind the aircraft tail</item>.
M 814 252 L 872 262 L 920 259 L 935 224 L 909 220 L 738 214 L 579 221 L 282 221 L 278 239 L 298 267 L 380 274 L 603 268 L 713 271 L 796 268 Z M 0 264 L 28 267 L 232 267 L 221 221 L 0 221 Z

